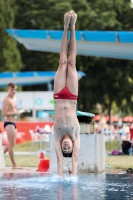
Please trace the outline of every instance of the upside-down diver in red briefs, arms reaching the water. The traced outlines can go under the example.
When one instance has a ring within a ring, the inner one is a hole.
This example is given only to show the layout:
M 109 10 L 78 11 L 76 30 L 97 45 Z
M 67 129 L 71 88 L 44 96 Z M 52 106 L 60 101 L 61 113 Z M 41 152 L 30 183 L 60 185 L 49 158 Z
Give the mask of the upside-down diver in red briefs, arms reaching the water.
M 64 15 L 64 34 L 60 48 L 60 61 L 54 80 L 54 135 L 58 174 L 60 176 L 63 176 L 63 156 L 72 157 L 72 175 L 76 176 L 80 149 L 80 126 L 76 116 L 78 98 L 76 20 L 77 14 L 74 11 L 67 12 Z M 71 36 L 68 45 L 69 27 Z

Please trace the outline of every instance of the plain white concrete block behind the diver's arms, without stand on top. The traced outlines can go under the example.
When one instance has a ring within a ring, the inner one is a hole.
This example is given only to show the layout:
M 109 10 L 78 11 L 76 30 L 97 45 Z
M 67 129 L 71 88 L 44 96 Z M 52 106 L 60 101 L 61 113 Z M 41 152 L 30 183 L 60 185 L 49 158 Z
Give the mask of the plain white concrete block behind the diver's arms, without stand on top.
M 50 172 L 57 173 L 54 135 L 50 135 Z M 64 172 L 72 169 L 72 159 L 64 158 Z M 105 170 L 105 142 L 103 134 L 80 134 L 78 172 L 100 173 Z

